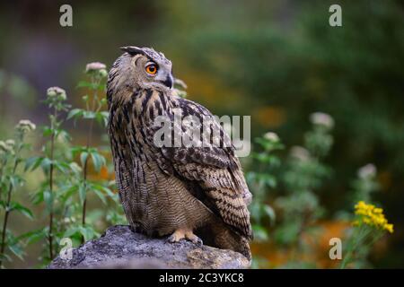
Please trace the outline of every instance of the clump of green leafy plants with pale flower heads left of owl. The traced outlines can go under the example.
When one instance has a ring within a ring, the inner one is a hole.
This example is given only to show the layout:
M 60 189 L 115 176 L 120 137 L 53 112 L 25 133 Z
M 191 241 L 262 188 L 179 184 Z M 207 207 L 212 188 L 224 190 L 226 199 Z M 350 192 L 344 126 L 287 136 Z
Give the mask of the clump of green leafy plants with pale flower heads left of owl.
M 115 188 L 114 181 L 108 178 L 89 178 L 91 168 L 97 175 L 101 169 L 107 169 L 107 165 L 112 163 L 107 161 L 99 148 L 91 145 L 93 122 L 105 128 L 108 120 L 108 113 L 102 110 L 106 100 L 100 99 L 99 96 L 99 92 L 104 90 L 106 72 L 91 70 L 86 74 L 90 82 L 79 84 L 79 87 L 92 91 L 91 97 L 83 96 L 86 109 L 71 109 L 70 105 L 66 104 L 66 91 L 58 87 L 48 89 L 44 103 L 51 111 L 48 116 L 49 125 L 42 126 L 42 136 L 48 140 L 42 146 L 41 155 L 22 161 L 25 171 L 42 170 L 45 179 L 40 188 L 31 195 L 31 199 L 33 204 L 44 206 L 42 216 L 47 218 L 48 224 L 17 239 L 9 235 L 7 242 L 16 242 L 15 246 L 9 243 L 13 252 L 22 250 L 16 245 L 19 241 L 24 244 L 43 242 L 40 257 L 42 266 L 47 265 L 57 255 L 58 242 L 61 239 L 72 239 L 73 245 L 78 246 L 84 240 L 100 235 L 101 230 L 97 229 L 96 222 L 102 221 L 102 218 L 105 217 L 110 224 L 124 222 L 119 196 L 112 192 L 112 188 Z M 75 123 L 79 120 L 90 121 L 86 145 L 72 145 L 72 136 L 63 128 L 66 119 L 74 119 Z M 4 153 L 2 162 L 7 154 Z M 2 170 L 3 166 L 2 164 Z M 112 170 L 111 167 L 109 170 Z M 5 175 L 2 178 L 6 178 Z M 15 177 L 12 182 L 16 180 L 20 179 Z M 3 179 L 1 182 L 3 187 L 6 182 Z M 13 183 L 13 186 L 17 183 Z M 106 212 L 98 209 L 87 212 L 86 203 L 89 197 L 92 198 L 92 194 L 99 198 L 101 204 L 108 205 L 108 208 L 102 209 L 107 210 Z M 10 210 L 33 217 L 31 211 L 21 204 L 9 205 Z

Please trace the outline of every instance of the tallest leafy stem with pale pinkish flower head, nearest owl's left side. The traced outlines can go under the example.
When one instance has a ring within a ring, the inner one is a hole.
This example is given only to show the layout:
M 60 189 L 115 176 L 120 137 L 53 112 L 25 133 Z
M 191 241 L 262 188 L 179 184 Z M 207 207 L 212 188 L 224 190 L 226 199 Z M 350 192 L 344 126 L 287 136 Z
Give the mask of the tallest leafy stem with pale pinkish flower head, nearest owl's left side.
M 80 82 L 78 85 L 78 87 L 86 88 L 90 91 L 89 94 L 83 96 L 85 109 L 72 109 L 67 117 L 74 119 L 75 123 L 78 120 L 89 121 L 85 145 L 76 145 L 71 149 L 73 156 L 80 159 L 82 169 L 82 175 L 75 186 L 78 190 L 82 210 L 81 226 L 74 226 L 65 233 L 66 237 L 81 234 L 82 243 L 99 235 L 94 228 L 94 216 L 91 216 L 92 222 L 90 224 L 87 224 L 88 222 L 86 221 L 89 192 L 98 196 L 103 204 L 110 204 L 110 200 L 112 200 L 113 204 L 118 205 L 119 201 L 118 196 L 111 191 L 111 188 L 114 187 L 113 180 L 91 180 L 89 178 L 90 162 L 92 162 L 93 170 L 98 174 L 101 170 L 107 170 L 108 168 L 106 158 L 101 153 L 101 149 L 95 147 L 92 143 L 94 122 L 98 123 L 103 129 L 106 128 L 108 122 L 108 112 L 103 110 L 107 100 L 104 95 L 100 96 L 100 92 L 105 90 L 105 79 L 108 73 L 105 65 L 98 62 L 88 64 L 85 73 L 89 77 L 89 81 Z M 119 212 L 115 211 L 117 211 L 116 207 L 110 208 L 107 218 L 111 221 L 119 222 L 121 216 Z M 95 218 L 97 217 L 95 216 Z

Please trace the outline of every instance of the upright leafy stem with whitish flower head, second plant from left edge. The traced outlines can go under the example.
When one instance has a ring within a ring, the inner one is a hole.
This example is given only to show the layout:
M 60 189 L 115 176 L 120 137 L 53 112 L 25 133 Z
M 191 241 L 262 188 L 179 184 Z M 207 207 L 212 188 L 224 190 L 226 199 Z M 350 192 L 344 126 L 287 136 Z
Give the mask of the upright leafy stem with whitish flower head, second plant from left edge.
M 65 90 L 59 87 L 48 89 L 44 103 L 51 109 L 51 113 L 48 126 L 42 126 L 42 135 L 48 141 L 42 146 L 42 154 L 31 157 L 25 164 L 25 170 L 40 168 L 45 178 L 39 190 L 32 195 L 32 203 L 45 205 L 44 215 L 48 217 L 48 225 L 40 230 L 32 230 L 25 236 L 28 243 L 46 239 L 42 252 L 44 263 L 48 263 L 57 254 L 57 242 L 65 228 L 70 204 L 70 198 L 66 196 L 68 179 L 78 169 L 68 152 L 71 136 L 62 128 L 65 113 L 70 109 L 66 99 Z

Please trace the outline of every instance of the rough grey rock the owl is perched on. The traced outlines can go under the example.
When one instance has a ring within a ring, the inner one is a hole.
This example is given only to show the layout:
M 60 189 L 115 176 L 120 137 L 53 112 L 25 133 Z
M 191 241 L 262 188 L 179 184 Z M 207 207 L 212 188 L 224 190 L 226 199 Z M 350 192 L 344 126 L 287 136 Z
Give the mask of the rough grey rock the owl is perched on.
M 73 249 L 73 257 L 55 258 L 48 268 L 249 268 L 250 261 L 232 250 L 189 241 L 166 242 L 135 233 L 127 225 L 110 227 L 101 238 Z

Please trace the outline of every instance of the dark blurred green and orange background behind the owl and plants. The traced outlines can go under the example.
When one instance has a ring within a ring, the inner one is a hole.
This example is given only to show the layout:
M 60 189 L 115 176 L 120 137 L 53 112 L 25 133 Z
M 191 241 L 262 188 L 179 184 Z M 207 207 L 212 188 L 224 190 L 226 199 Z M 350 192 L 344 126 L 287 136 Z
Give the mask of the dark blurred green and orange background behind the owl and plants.
M 73 27 L 66 28 L 61 4 L 0 4 L 2 138 L 20 118 L 46 122 L 40 100 L 49 86 L 63 87 L 79 105 L 75 85 L 86 63 L 110 67 L 120 46 L 153 47 L 171 59 L 190 100 L 217 115 L 250 115 L 252 136 L 275 131 L 286 145 L 300 143 L 310 113 L 334 117 L 327 159 L 334 171 L 321 200 L 329 213 L 347 209 L 350 178 L 373 162 L 382 187 L 375 199 L 395 224 L 375 265 L 403 266 L 402 2 L 73 1 Z M 342 27 L 329 26 L 330 4 L 342 6 Z M 76 126 L 73 134 L 80 142 L 84 133 Z M 18 216 L 11 224 L 19 225 Z M 31 265 L 31 257 L 14 266 Z

